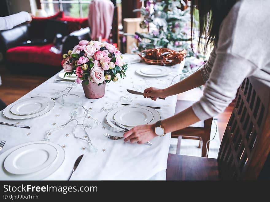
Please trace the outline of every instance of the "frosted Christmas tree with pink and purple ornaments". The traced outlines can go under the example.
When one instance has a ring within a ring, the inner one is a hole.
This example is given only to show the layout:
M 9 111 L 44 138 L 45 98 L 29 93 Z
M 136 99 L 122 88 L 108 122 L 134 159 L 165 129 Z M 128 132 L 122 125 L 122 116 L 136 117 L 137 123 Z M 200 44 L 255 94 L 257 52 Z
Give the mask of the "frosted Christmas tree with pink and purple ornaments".
M 169 48 L 176 51 L 187 50 L 186 70 L 201 65 L 203 56 L 194 53 L 196 47 L 191 48 L 190 9 L 183 0 L 149 0 L 145 7 L 134 10 L 140 11 L 144 19 L 140 23 L 145 33 L 135 33 L 137 44 L 133 52 L 152 48 Z M 196 22 L 195 22 L 196 24 Z M 193 33 L 193 36 L 197 34 Z M 197 41 L 193 40 L 194 43 Z

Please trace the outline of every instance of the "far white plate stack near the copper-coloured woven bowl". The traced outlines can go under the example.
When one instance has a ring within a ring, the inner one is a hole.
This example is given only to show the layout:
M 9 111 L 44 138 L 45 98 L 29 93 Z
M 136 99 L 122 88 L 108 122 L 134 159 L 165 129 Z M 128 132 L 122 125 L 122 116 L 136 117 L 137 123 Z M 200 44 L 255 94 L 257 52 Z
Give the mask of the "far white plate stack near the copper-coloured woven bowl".
M 172 73 L 172 70 L 160 65 L 149 65 L 148 67 L 137 69 L 136 73 L 145 77 L 164 77 Z

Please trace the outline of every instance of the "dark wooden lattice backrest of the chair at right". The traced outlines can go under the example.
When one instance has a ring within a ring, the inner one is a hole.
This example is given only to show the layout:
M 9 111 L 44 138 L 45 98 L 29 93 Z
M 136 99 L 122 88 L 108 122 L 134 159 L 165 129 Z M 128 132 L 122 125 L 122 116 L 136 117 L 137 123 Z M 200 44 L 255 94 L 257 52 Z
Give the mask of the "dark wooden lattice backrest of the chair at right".
M 270 151 L 270 88 L 252 77 L 238 89 L 219 152 L 222 180 L 256 180 Z

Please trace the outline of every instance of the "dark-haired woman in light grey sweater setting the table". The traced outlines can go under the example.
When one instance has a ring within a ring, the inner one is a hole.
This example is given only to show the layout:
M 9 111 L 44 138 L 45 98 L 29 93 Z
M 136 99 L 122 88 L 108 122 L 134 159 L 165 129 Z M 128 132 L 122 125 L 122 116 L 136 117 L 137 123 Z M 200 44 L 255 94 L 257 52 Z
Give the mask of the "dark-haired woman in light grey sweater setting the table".
M 206 46 L 214 45 L 210 58 L 202 69 L 175 85 L 145 89 L 144 97 L 156 100 L 205 84 L 203 97 L 161 122 L 134 127 L 124 134 L 125 141 L 143 144 L 222 113 L 246 77 L 270 86 L 269 1 L 191 0 L 191 14 L 194 6 L 199 10 L 200 36 L 206 36 Z

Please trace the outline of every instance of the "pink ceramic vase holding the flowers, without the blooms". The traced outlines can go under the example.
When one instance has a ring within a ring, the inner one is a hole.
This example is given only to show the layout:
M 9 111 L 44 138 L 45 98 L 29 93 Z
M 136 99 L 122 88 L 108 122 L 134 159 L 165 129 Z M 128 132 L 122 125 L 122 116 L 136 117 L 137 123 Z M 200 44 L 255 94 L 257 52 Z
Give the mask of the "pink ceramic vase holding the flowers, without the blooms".
M 89 80 L 88 85 L 86 85 L 85 82 L 82 82 L 82 85 L 85 97 L 88 99 L 98 99 L 103 97 L 105 94 L 105 82 L 98 85 L 97 83 L 93 83 Z

